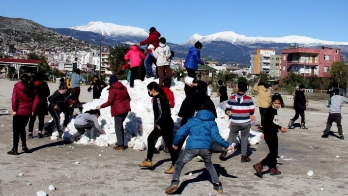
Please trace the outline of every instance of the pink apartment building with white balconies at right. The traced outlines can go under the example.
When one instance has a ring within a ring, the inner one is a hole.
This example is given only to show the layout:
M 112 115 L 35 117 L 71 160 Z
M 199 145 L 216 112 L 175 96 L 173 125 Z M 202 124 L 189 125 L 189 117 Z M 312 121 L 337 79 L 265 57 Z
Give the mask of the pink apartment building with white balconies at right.
M 290 71 L 306 77 L 329 77 L 333 62 L 341 60 L 341 50 L 290 47 L 281 50 L 281 57 L 281 78 L 288 76 Z

